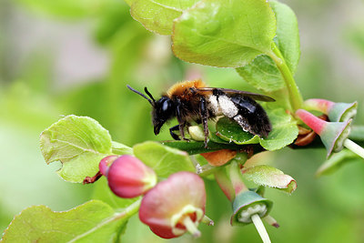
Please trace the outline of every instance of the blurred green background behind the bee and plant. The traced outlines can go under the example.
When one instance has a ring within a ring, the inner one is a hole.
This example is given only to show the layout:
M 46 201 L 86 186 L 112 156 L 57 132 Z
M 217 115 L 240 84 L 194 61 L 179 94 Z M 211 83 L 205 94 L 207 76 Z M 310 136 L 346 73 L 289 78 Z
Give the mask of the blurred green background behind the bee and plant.
M 305 98 L 359 101 L 364 124 L 364 2 L 290 0 L 298 15 L 301 60 L 296 79 Z M 126 89 L 148 86 L 158 96 L 168 86 L 202 76 L 210 86 L 252 90 L 233 69 L 189 65 L 174 57 L 168 36 L 149 33 L 122 0 L 2 0 L 0 2 L 0 231 L 31 205 L 67 210 L 92 197 L 95 185 L 63 181 L 45 165 L 39 134 L 60 117 L 91 116 L 113 139 L 132 146 L 155 137 L 150 106 Z M 259 156 L 294 177 L 290 197 L 268 189 L 275 203 L 268 226 L 273 242 L 364 242 L 364 163 L 357 160 L 330 177 L 315 178 L 326 152 L 285 148 Z M 202 238 L 172 242 L 260 242 L 253 226 L 231 228 L 227 199 L 207 181 Z M 162 242 L 137 217 L 123 242 Z

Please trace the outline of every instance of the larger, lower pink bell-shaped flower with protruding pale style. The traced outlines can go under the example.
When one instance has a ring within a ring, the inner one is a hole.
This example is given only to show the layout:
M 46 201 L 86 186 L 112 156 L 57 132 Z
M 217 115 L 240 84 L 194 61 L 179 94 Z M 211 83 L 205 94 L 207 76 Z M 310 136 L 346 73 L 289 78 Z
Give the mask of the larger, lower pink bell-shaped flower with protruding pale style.
M 153 187 L 143 197 L 139 218 L 161 238 L 177 238 L 186 231 L 198 237 L 204 218 L 204 181 L 191 172 L 178 172 Z

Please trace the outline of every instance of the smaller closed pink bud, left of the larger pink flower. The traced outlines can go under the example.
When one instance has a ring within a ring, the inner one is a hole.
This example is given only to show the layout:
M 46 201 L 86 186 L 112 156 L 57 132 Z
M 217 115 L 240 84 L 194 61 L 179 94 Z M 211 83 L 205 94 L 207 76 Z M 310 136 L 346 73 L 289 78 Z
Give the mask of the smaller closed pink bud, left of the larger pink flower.
M 136 157 L 121 156 L 107 170 L 110 189 L 118 197 L 138 197 L 157 184 L 157 175 Z

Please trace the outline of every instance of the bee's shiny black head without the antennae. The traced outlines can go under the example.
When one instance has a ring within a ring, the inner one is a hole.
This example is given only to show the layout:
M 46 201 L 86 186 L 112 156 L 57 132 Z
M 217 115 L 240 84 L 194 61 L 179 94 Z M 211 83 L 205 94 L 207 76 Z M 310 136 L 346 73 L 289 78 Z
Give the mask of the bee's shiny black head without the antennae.
M 152 119 L 154 134 L 159 134 L 160 128 L 173 116 L 175 116 L 175 104 L 168 96 L 162 96 L 153 106 Z

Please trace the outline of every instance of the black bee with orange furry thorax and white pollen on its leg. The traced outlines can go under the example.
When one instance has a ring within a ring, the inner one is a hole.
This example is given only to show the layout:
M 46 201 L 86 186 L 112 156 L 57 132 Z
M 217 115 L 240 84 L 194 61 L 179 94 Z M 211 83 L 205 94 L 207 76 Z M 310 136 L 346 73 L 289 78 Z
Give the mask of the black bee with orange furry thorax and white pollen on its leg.
M 201 79 L 184 81 L 171 86 L 167 93 L 156 100 L 144 88 L 147 96 L 127 86 L 131 91 L 147 99 L 152 105 L 152 122 L 155 135 L 170 119 L 177 117 L 178 125 L 169 128 L 171 137 L 180 140 L 185 138 L 185 127 L 192 122 L 203 125 L 205 147 L 208 141 L 207 120 L 217 116 L 227 116 L 234 120 L 246 132 L 259 137 L 268 137 L 272 130 L 266 111 L 255 100 L 275 101 L 269 96 L 263 96 L 246 91 L 207 87 Z M 180 137 L 175 133 L 179 130 Z

